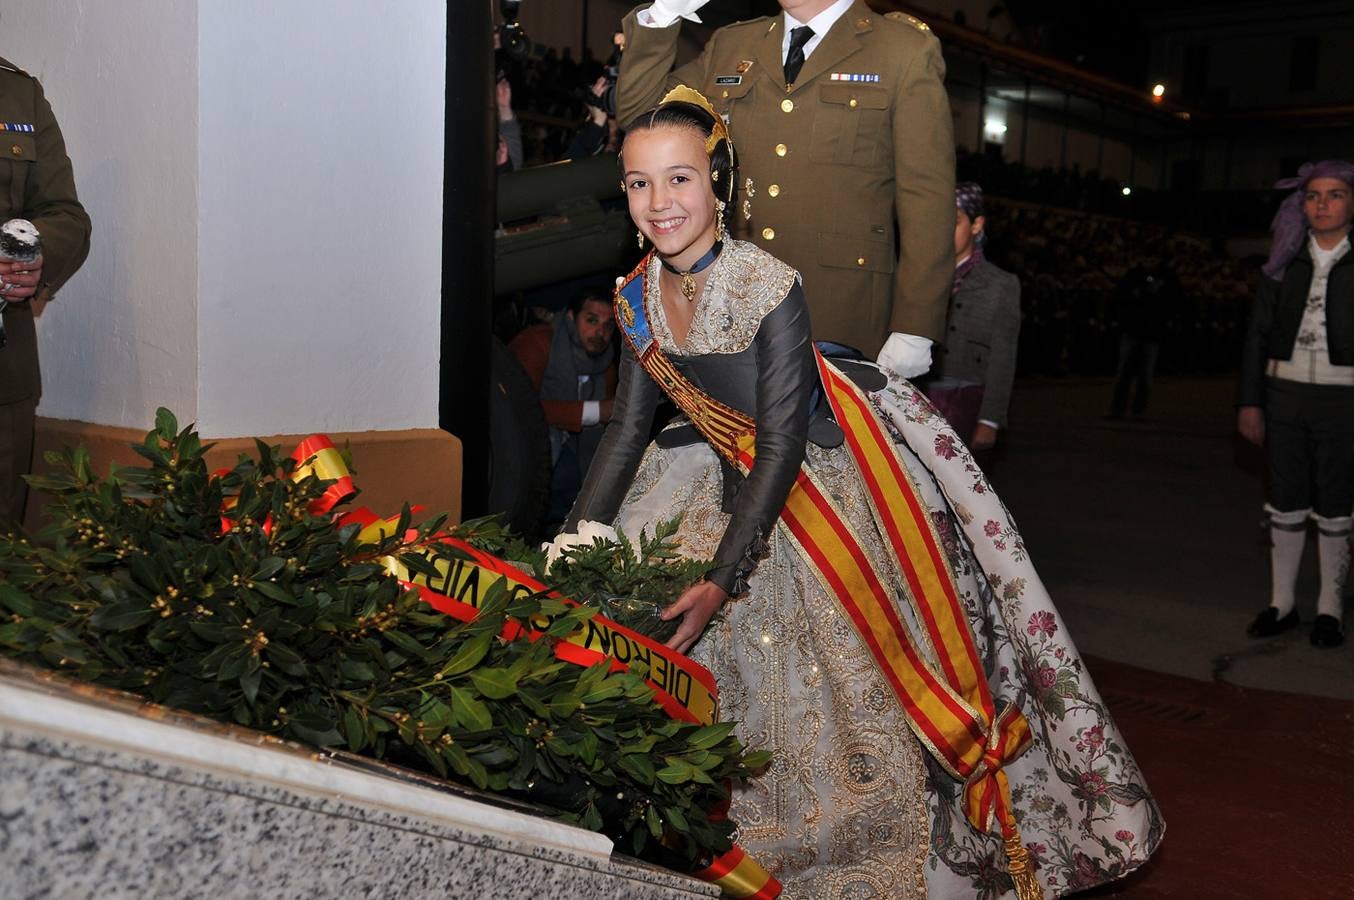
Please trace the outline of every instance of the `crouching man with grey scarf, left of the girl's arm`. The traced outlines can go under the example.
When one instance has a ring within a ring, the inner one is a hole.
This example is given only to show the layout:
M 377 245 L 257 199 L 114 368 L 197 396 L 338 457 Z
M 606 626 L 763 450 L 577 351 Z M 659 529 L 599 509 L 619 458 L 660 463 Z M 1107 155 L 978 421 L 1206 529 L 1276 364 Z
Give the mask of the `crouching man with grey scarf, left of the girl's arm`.
M 612 305 L 581 294 L 552 323 L 532 325 L 508 348 L 540 391 L 550 425 L 547 525 L 563 521 L 611 421 L 616 395 L 616 322 Z

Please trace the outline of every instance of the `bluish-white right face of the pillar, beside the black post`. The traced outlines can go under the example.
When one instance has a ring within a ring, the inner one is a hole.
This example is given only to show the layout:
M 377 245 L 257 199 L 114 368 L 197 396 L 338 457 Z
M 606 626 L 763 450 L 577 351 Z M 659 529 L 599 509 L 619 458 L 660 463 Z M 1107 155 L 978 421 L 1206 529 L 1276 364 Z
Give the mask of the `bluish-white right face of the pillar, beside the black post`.
M 206 433 L 436 426 L 445 34 L 441 0 L 202 3 Z

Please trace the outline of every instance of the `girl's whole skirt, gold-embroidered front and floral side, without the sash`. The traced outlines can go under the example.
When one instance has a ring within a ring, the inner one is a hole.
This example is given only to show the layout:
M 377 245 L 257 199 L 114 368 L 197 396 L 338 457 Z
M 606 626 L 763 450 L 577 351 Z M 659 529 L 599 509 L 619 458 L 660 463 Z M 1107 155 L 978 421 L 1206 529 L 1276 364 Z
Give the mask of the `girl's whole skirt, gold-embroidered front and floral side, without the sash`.
M 1064 895 L 1122 877 L 1159 845 L 1160 813 L 1014 521 L 910 383 L 891 378 L 871 399 L 930 510 L 997 706 L 1014 701 L 1030 723 L 1033 744 L 1006 771 L 1041 884 Z M 918 635 L 846 449 L 810 445 L 807 464 Z M 708 447 L 651 445 L 616 524 L 634 535 L 681 513 L 684 552 L 709 558 L 727 522 L 719 501 Z M 961 785 L 930 762 L 837 601 L 781 531 L 747 593 L 692 651 L 719 682 L 720 717 L 741 723 L 746 744 L 776 752 L 734 796 L 739 843 L 785 897 L 1014 897 L 999 838 L 968 826 Z

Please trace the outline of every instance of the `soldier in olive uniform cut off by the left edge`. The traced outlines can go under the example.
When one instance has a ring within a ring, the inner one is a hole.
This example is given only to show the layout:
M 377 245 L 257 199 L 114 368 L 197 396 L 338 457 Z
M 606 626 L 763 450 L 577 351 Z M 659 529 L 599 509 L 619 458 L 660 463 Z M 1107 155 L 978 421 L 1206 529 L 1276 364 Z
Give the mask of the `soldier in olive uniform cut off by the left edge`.
M 0 526 L 23 518 L 32 462 L 34 410 L 42 392 L 32 303 L 50 300 L 89 253 L 89 217 L 76 198 L 66 143 L 38 80 L 0 60 L 0 222 L 31 221 L 42 254 L 0 261 L 5 300 L 0 348 Z

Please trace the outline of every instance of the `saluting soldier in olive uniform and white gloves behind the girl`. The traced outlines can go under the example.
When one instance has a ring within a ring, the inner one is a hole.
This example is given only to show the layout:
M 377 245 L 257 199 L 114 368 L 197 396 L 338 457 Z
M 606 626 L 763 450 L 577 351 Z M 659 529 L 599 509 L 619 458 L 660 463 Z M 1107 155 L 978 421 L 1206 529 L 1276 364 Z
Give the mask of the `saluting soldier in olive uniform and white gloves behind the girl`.
M 925 372 L 955 268 L 938 41 L 864 0 L 780 0 L 783 15 L 719 28 L 673 70 L 680 19 L 699 22 L 703 3 L 655 0 L 626 16 L 620 120 L 676 84 L 708 96 L 754 181 L 751 219 L 733 217 L 734 233 L 800 271 L 814 337 L 872 356 L 884 346 L 879 361 L 899 375 Z

